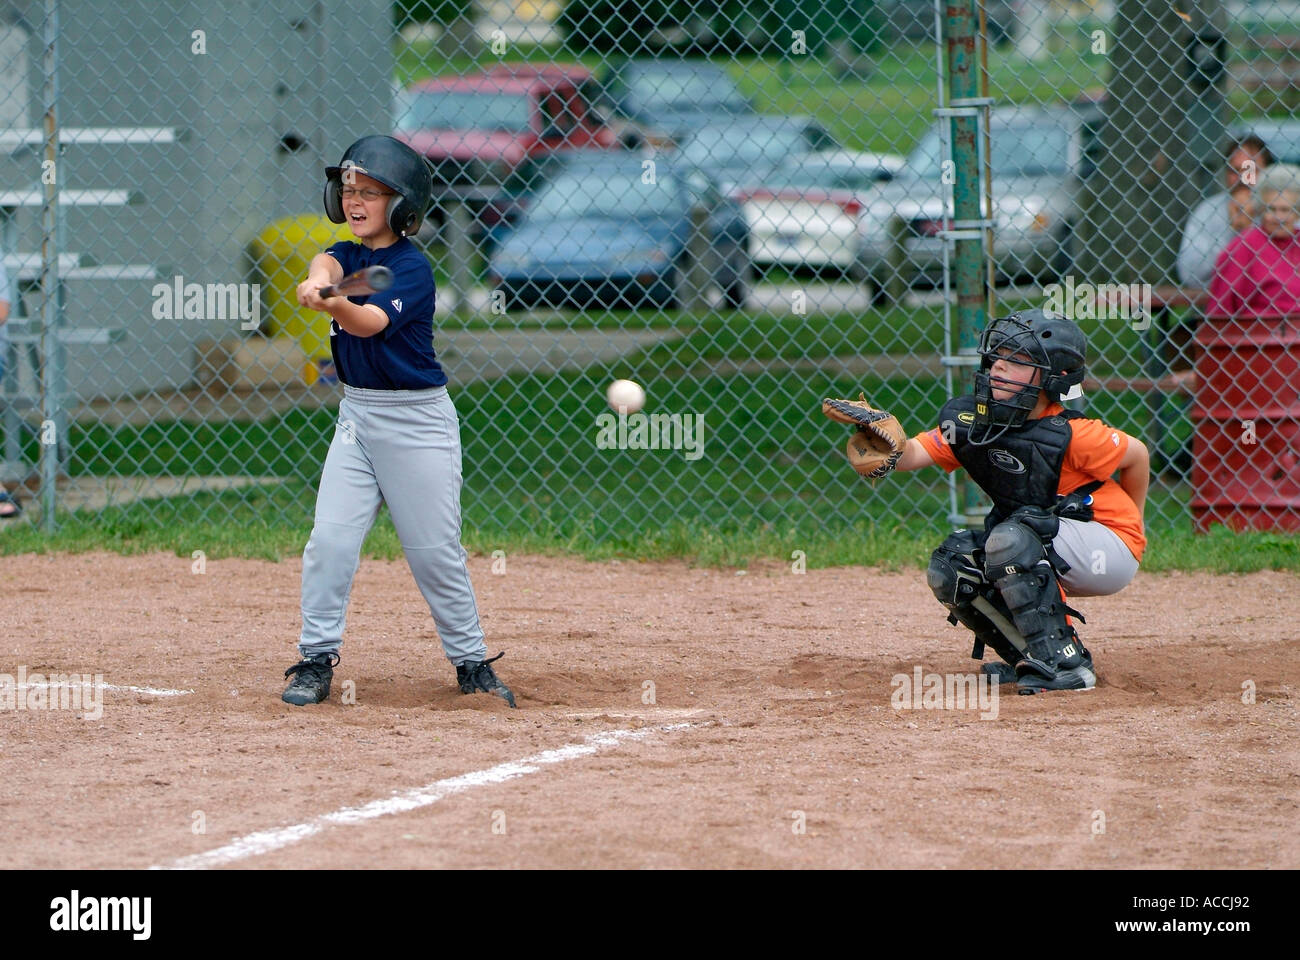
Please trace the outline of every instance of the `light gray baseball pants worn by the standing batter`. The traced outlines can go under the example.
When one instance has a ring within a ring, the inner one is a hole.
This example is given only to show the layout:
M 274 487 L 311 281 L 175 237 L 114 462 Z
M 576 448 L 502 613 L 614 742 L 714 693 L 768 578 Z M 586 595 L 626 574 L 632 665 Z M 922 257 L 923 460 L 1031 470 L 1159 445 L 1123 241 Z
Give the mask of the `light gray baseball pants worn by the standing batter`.
M 343 388 L 338 425 L 303 550 L 303 657 L 343 643 L 361 542 L 389 515 L 452 663 L 485 660 L 478 606 L 460 545 L 460 423 L 447 388 Z

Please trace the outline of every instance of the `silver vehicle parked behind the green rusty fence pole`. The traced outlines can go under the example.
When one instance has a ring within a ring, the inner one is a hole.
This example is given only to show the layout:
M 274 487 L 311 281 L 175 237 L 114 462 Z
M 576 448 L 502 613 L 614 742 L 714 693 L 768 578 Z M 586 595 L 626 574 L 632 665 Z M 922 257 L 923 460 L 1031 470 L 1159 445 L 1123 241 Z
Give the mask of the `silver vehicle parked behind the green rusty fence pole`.
M 1069 272 L 1074 225 L 1080 217 L 1079 187 L 1092 170 L 1084 147 L 1098 117 L 1096 105 L 993 111 L 993 263 L 998 278 L 1044 280 Z M 983 172 L 983 138 L 978 143 Z M 907 156 L 900 176 L 879 187 L 864 206 L 858 263 L 878 290 L 892 269 L 889 224 L 894 216 L 905 225 L 902 269 L 907 282 L 941 281 L 944 241 L 939 234 L 950 224 L 945 198 L 950 217 L 953 191 L 942 182 L 945 160 L 936 125 Z M 983 174 L 980 182 L 983 196 Z

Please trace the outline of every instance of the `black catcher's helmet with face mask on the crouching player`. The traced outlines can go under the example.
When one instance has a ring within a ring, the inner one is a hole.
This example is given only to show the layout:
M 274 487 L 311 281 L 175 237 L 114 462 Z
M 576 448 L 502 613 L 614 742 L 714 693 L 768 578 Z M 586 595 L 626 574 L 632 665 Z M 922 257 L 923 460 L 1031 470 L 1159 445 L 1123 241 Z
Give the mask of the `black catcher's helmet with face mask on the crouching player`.
M 1052 399 L 1083 382 L 1088 340 L 1072 320 L 1024 310 L 984 328 L 979 340 L 980 366 L 975 373 L 975 423 L 971 442 L 991 444 L 1006 431 L 1024 424 L 1039 399 L 1039 389 Z M 998 356 L 1013 356 L 1041 371 L 1039 386 L 992 375 Z M 993 399 L 993 384 L 1017 390 L 1014 397 Z

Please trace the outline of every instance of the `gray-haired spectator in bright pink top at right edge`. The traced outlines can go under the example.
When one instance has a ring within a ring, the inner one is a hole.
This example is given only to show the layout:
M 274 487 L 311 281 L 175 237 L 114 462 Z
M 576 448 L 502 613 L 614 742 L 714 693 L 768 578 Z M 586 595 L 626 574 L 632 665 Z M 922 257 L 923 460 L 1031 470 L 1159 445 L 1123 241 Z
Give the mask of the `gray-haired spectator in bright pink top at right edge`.
M 1300 167 L 1270 167 L 1254 193 L 1260 225 L 1219 255 L 1206 316 L 1300 316 Z

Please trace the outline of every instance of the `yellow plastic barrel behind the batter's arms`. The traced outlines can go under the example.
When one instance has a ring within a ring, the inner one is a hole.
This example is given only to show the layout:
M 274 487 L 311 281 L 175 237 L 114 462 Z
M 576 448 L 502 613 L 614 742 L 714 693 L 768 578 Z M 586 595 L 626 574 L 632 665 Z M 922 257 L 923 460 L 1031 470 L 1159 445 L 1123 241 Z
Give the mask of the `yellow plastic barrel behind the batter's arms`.
M 298 285 L 312 258 L 341 239 L 355 239 L 347 224 L 304 213 L 268 225 L 250 245 L 261 276 L 261 300 L 272 337 L 292 337 L 308 358 L 328 358 L 329 313 L 298 306 Z

